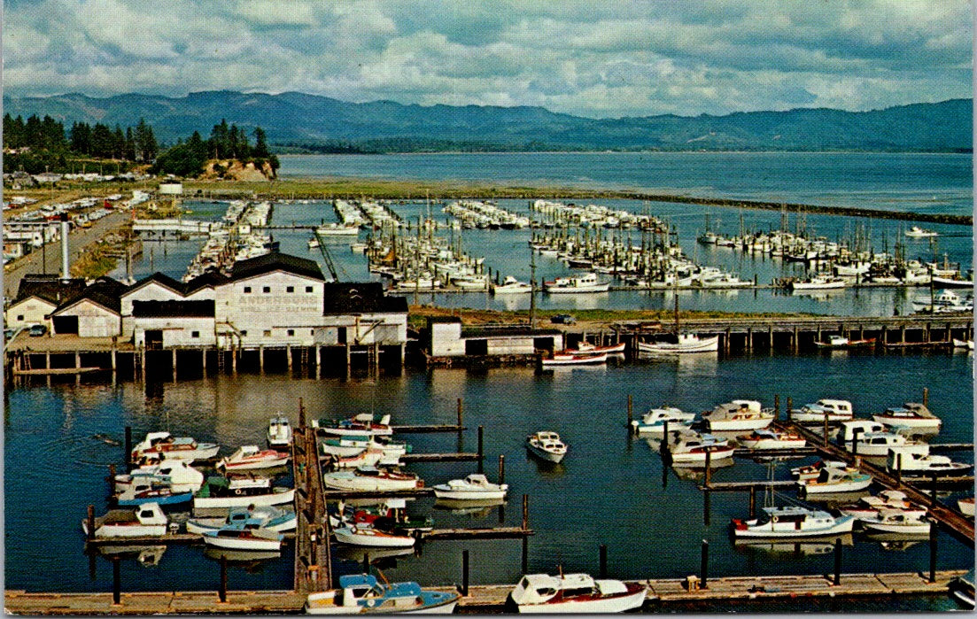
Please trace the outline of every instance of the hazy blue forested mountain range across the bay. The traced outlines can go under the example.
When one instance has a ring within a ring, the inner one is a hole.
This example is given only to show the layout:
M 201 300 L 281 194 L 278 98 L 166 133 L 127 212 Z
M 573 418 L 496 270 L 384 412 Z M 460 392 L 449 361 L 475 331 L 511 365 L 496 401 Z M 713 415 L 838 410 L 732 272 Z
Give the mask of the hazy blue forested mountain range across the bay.
M 969 151 L 973 100 L 913 103 L 851 112 L 827 108 L 737 112 L 724 116 L 593 119 L 542 107 L 347 103 L 302 93 L 209 91 L 170 98 L 128 94 L 96 99 L 70 94 L 3 98 L 24 118 L 134 126 L 140 118 L 157 139 L 173 143 L 226 118 L 262 127 L 278 146 L 325 151 L 416 150 L 911 150 Z

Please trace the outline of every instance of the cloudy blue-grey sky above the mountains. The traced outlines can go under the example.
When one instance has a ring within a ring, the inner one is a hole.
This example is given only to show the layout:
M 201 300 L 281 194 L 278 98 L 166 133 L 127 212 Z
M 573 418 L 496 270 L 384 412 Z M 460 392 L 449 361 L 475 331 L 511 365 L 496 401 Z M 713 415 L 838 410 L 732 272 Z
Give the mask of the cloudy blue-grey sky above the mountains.
M 298 91 L 594 118 L 972 97 L 965 0 L 5 0 L 10 96 Z

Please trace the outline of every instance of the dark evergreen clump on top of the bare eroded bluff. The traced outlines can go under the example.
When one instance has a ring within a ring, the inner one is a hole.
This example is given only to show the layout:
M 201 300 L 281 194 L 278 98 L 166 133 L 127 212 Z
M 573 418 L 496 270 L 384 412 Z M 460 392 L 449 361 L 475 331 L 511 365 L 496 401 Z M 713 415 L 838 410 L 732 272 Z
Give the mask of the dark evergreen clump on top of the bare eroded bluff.
M 254 144 L 248 140 L 248 133 L 237 125 L 228 125 L 226 119 L 214 125 L 210 138 L 204 140 L 200 132 L 194 131 L 186 140 L 159 153 L 152 166 L 152 172 L 173 174 L 181 177 L 196 176 L 203 172 L 209 159 L 237 159 L 243 163 L 254 163 L 261 168 L 267 162 L 273 170 L 278 169 L 278 158 L 268 149 L 268 140 L 261 127 L 251 132 Z

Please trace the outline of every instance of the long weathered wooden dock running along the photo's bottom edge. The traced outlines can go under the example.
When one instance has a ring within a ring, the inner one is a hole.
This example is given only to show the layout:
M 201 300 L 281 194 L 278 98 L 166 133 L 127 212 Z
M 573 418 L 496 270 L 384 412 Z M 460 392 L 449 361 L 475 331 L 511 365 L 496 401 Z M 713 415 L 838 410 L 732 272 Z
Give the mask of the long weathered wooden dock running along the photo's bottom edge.
M 841 574 L 835 585 L 829 575 L 727 576 L 637 581 L 648 586 L 645 608 L 654 610 L 690 602 L 720 600 L 777 601 L 784 598 L 856 598 L 885 596 L 945 596 L 950 582 L 965 569 L 941 570 L 934 582 L 916 572 Z M 691 580 L 691 586 L 690 586 Z M 473 585 L 458 602 L 462 612 L 506 609 L 514 585 Z M 457 591 L 454 586 L 434 587 Z M 306 596 L 292 591 L 229 591 L 222 602 L 215 591 L 122 593 L 112 603 L 111 593 L 57 594 L 5 592 L 4 610 L 17 615 L 149 615 L 149 614 L 293 614 L 301 612 Z M 771 609 L 776 609 L 772 606 Z

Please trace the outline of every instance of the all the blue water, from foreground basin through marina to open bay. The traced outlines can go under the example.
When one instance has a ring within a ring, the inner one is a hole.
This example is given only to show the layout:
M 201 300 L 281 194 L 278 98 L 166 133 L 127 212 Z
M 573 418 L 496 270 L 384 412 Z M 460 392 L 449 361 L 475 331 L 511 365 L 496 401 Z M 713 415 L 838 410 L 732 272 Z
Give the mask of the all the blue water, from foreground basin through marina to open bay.
M 970 155 L 837 154 L 837 153 L 537 153 L 400 156 L 282 157 L 283 177 L 348 176 L 385 179 L 485 181 L 526 186 L 581 186 L 686 193 L 715 197 L 806 202 L 828 206 L 861 206 L 926 213 L 969 214 L 972 210 Z M 414 196 L 416 197 L 416 196 Z M 277 226 L 315 227 L 335 221 L 328 202 L 289 201 L 275 204 Z M 703 265 L 732 270 L 760 283 L 775 277 L 802 275 L 803 267 L 769 257 L 750 257 L 726 248 L 702 246 L 697 232 L 710 227 L 726 234 L 779 228 L 782 214 L 772 211 L 720 209 L 699 205 L 634 200 L 586 200 L 637 213 L 649 212 L 678 227 L 685 253 Z M 217 220 L 226 203 L 188 200 L 191 219 Z M 526 200 L 499 200 L 499 205 L 528 211 Z M 404 201 L 392 208 L 404 221 L 416 223 L 429 208 L 446 222 L 440 207 Z M 789 229 L 797 226 L 789 216 Z M 940 232 L 935 244 L 907 239 L 909 223 L 808 215 L 809 232 L 830 240 L 850 237 L 856 229 L 871 232 L 878 251 L 898 241 L 907 258 L 934 257 L 961 268 L 972 266 L 971 227 L 926 225 Z M 485 257 L 487 267 L 501 275 L 530 276 L 530 230 L 449 230 L 460 235 L 463 249 Z M 616 232 L 625 235 L 627 231 Z M 361 238 L 366 232 L 361 232 Z M 640 232 L 631 231 L 635 244 Z M 275 230 L 280 250 L 317 260 L 310 250 L 310 229 Z M 201 239 L 144 242 L 143 254 L 131 265 L 136 278 L 159 270 L 181 277 L 202 244 Z M 330 241 L 329 251 L 344 280 L 370 278 L 361 254 L 350 251 L 350 239 Z M 538 279 L 574 272 L 555 259 L 535 257 Z M 124 265 L 112 273 L 121 277 Z M 601 295 L 537 298 L 542 309 L 669 309 L 671 291 L 612 291 Z M 679 291 L 683 309 L 727 311 L 807 311 L 834 315 L 892 315 L 912 311 L 916 295 L 928 289 L 865 288 L 828 295 L 789 295 L 774 290 Z M 411 303 L 446 307 L 525 309 L 520 299 L 494 299 L 485 293 L 406 295 Z M 570 298 L 567 298 L 570 297 Z M 579 297 L 579 298 L 573 298 Z M 497 457 L 505 456 L 505 481 L 510 485 L 503 509 L 453 513 L 435 509 L 433 499 L 411 502 L 408 511 L 431 514 L 437 527 L 492 526 L 521 522 L 522 496 L 529 495 L 529 569 L 555 573 L 596 573 L 598 549 L 609 548 L 609 574 L 617 578 L 684 578 L 700 570 L 702 540 L 709 542 L 709 575 L 821 574 L 833 569 L 832 549 L 824 543 L 734 544 L 731 518 L 747 515 L 745 493 L 713 493 L 709 523 L 704 522 L 701 472 L 666 470 L 655 444 L 625 431 L 630 394 L 636 415 L 661 404 L 702 411 L 733 398 L 759 399 L 782 407 L 789 396 L 795 405 L 821 397 L 853 402 L 866 417 L 888 406 L 918 401 L 929 390 L 930 409 L 944 420 L 934 442 L 973 441 L 973 354 L 967 352 L 873 354 L 821 351 L 810 354 L 734 355 L 722 359 L 682 358 L 612 362 L 596 369 L 569 369 L 537 374 L 529 368 L 405 369 L 378 379 L 353 376 L 320 380 L 269 372 L 236 376 L 181 378 L 148 376 L 145 383 L 112 380 L 110 375 L 28 379 L 5 392 L 4 490 L 7 589 L 27 591 L 109 591 L 110 562 L 84 554 L 81 520 L 89 504 L 96 514 L 106 510 L 109 464 L 121 467 L 125 427 L 138 440 L 145 433 L 167 430 L 216 441 L 222 454 L 241 444 L 260 444 L 269 418 L 287 415 L 298 420 L 301 398 L 309 418 L 342 418 L 361 412 L 391 414 L 397 424 L 451 424 L 462 398 L 462 436 L 408 434 L 414 452 L 475 451 L 478 426 L 485 428 L 486 473 L 496 476 Z M 570 454 L 556 467 L 531 459 L 524 448 L 527 434 L 551 430 L 570 444 Z M 951 454 L 973 461 L 970 452 Z M 714 481 L 788 478 L 790 467 L 812 458 L 775 463 L 738 459 L 713 472 Z M 474 463 L 427 463 L 409 467 L 434 485 L 475 470 Z M 284 482 L 290 481 L 286 477 Z M 762 493 L 761 493 L 762 494 Z M 968 492 L 941 496 L 953 503 Z M 764 500 L 758 495 L 758 500 Z M 796 495 L 773 497 L 778 504 Z M 179 512 L 175 513 L 178 518 Z M 870 541 L 862 535 L 846 539 L 843 571 L 925 571 L 926 541 Z M 516 583 L 522 575 L 518 540 L 431 541 L 418 552 L 387 557 L 390 580 L 415 579 L 424 584 L 461 581 L 461 554 L 471 552 L 473 584 Z M 335 550 L 335 549 L 334 549 Z M 362 553 L 339 549 L 338 573 L 360 569 Z M 374 558 L 376 556 L 374 555 Z M 938 567 L 973 565 L 972 549 L 941 532 Z M 229 567 L 232 589 L 288 589 L 293 555 L 286 545 L 281 557 L 234 562 Z M 144 565 L 135 556 L 123 560 L 123 591 L 215 590 L 218 562 L 195 546 L 172 546 L 158 564 Z M 787 605 L 778 608 L 787 609 Z M 922 598 L 852 602 L 804 603 L 799 610 L 938 610 L 953 607 L 945 599 Z M 697 607 L 693 610 L 756 610 Z M 769 607 L 766 607 L 769 609 Z

